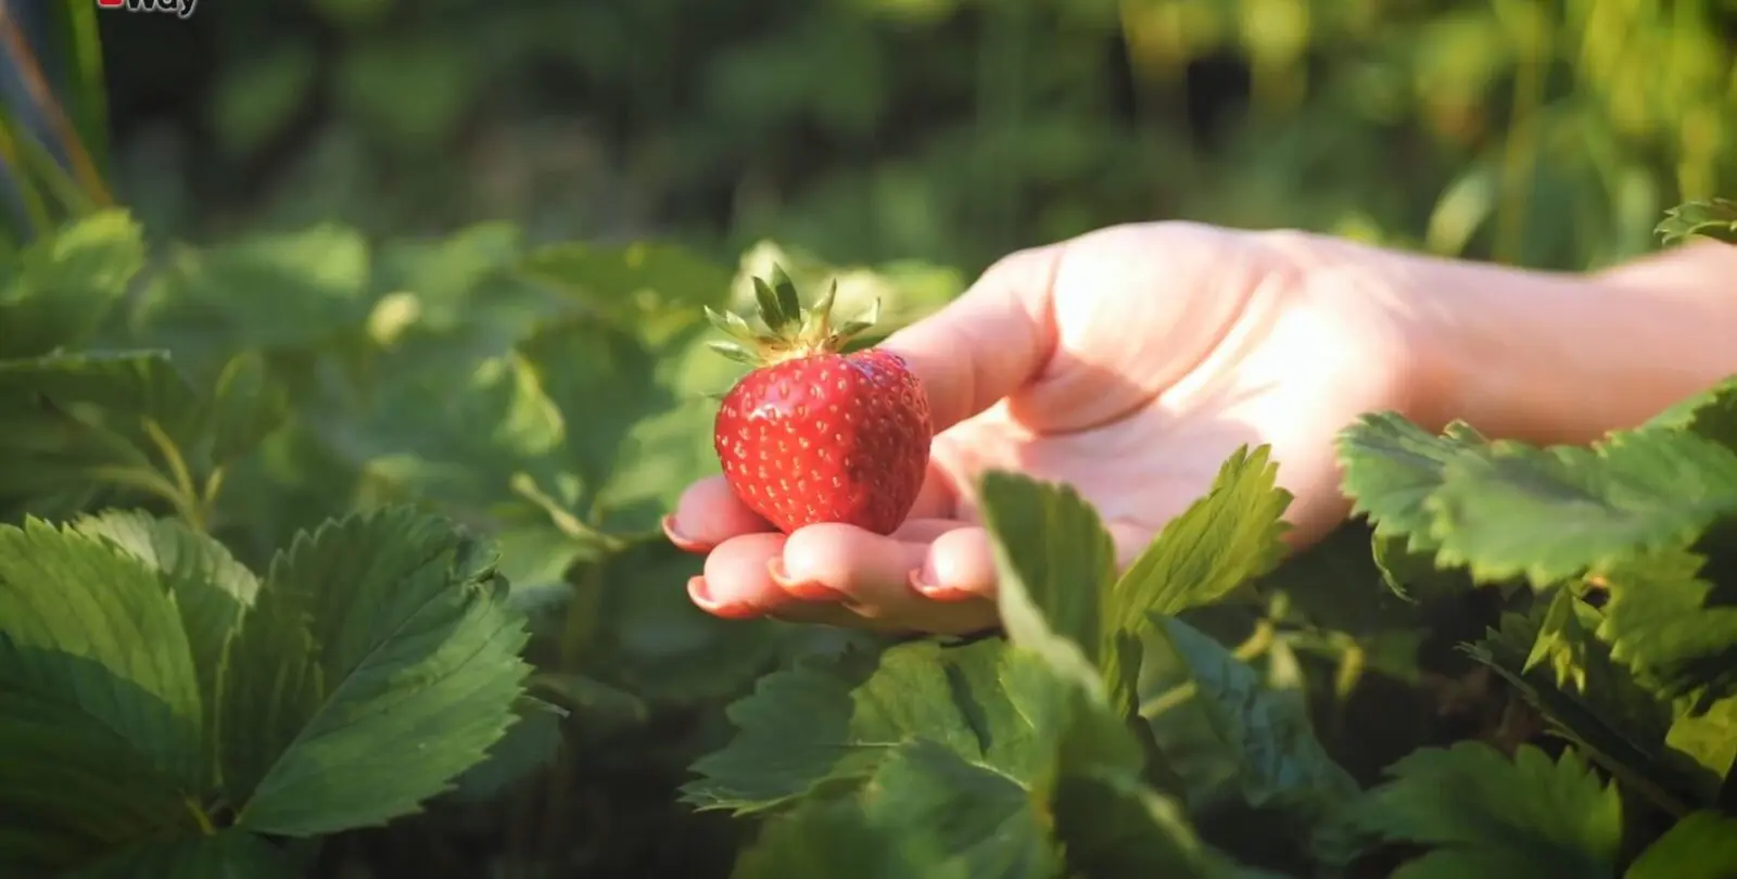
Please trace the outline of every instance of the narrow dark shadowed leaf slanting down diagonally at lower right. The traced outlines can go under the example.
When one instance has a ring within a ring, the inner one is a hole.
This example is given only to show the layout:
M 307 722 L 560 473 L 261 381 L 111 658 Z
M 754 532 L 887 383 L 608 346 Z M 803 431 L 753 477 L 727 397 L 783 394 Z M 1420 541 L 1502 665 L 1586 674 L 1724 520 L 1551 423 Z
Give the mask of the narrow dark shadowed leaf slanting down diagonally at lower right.
M 1596 610 L 1581 610 L 1586 618 L 1575 634 L 1584 638 L 1575 651 L 1575 677 L 1586 686 L 1563 686 L 1563 677 L 1549 667 L 1525 669 L 1539 641 L 1542 613 L 1539 608 L 1530 617 L 1503 615 L 1501 625 L 1468 644 L 1466 653 L 1501 674 L 1544 716 L 1555 735 L 1655 804 L 1681 810 L 1683 804 L 1711 803 L 1723 770 L 1711 770 L 1699 754 L 1681 747 L 1671 735 L 1673 707 L 1614 662 L 1608 644 L 1584 638 L 1584 625 L 1596 618 Z

